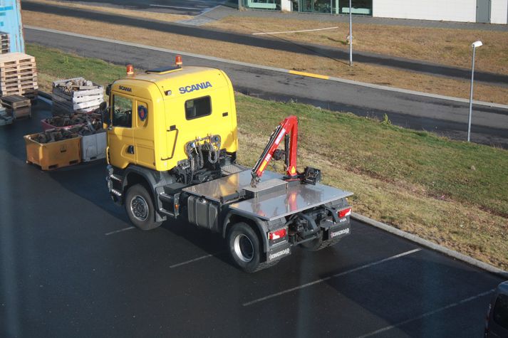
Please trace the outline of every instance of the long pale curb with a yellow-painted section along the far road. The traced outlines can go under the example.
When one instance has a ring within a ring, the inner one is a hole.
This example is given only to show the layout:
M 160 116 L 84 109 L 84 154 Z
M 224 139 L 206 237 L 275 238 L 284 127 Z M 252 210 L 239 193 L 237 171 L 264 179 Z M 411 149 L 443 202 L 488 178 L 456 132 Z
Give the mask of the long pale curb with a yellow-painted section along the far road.
M 43 31 L 43 32 L 48 32 L 48 33 L 56 33 L 56 34 L 62 34 L 62 35 L 66 35 L 66 36 L 74 36 L 76 38 L 86 38 L 88 40 L 102 41 L 102 42 L 106 42 L 106 43 L 115 43 L 115 44 L 118 44 L 118 45 L 130 46 L 130 47 L 135 47 L 135 48 L 143 48 L 143 49 L 148 49 L 150 51 L 159 51 L 159 52 L 162 52 L 162 53 L 180 54 L 182 56 L 189 56 L 191 58 L 202 58 L 204 60 L 212 60 L 212 61 L 221 62 L 221 63 L 229 63 L 231 65 L 242 65 L 244 67 L 257 68 L 257 69 L 263 69 L 263 70 L 271 70 L 271 71 L 279 72 L 279 73 L 286 73 L 286 74 L 292 74 L 292 75 L 300 75 L 300 76 L 306 76 L 306 77 L 309 77 L 309 78 L 319 78 L 319 79 L 334 81 L 334 82 L 338 82 L 338 83 L 346 83 L 348 85 L 358 85 L 358 86 L 361 86 L 361 87 L 364 87 L 364 88 L 373 88 L 373 89 L 377 89 L 377 90 L 386 90 L 386 91 L 395 92 L 395 93 L 403 93 L 403 94 L 408 94 L 408 95 L 418 95 L 418 96 L 423 96 L 423 97 L 431 97 L 431 98 L 435 98 L 435 99 L 438 99 L 438 100 L 448 100 L 448 101 L 452 101 L 452 102 L 469 103 L 469 100 L 462 99 L 460 97 L 452 97 L 452 96 L 445 96 L 445 95 L 423 93 L 423 92 L 417 92 L 415 90 L 406 90 L 406 89 L 401 89 L 401 88 L 387 87 L 387 86 L 384 86 L 384 85 L 373 85 L 372 83 L 357 82 L 357 81 L 353 81 L 353 80 L 346 80 L 346 79 L 343 79 L 343 78 L 336 78 L 336 77 L 328 76 L 328 75 L 319 75 L 319 74 L 313 74 L 313 73 L 297 72 L 295 70 L 270 67 L 270 66 L 266 66 L 266 65 L 256 65 L 254 63 L 246 63 L 246 62 L 242 62 L 242 61 L 228 60 L 228 59 L 225 59 L 225 58 L 216 58 L 214 56 L 204 56 L 204 55 L 201 55 L 201 54 L 187 53 L 187 52 L 184 52 L 184 51 L 174 51 L 174 50 L 167 49 L 167 48 L 160 48 L 160 47 L 142 45 L 140 43 L 130 43 L 130 42 L 125 42 L 125 41 L 113 40 L 113 39 L 110 39 L 110 38 L 99 38 L 99 37 L 96 37 L 96 36 L 87 36 L 87 35 L 78 34 L 78 33 L 68 33 L 68 32 L 58 31 L 56 29 L 51 29 L 51 28 L 41 28 L 41 27 L 29 26 L 29 25 L 24 25 L 23 27 L 27 28 L 27 29 L 32 29 L 33 31 Z M 473 100 L 473 104 L 474 105 L 481 105 L 481 106 L 484 106 L 484 107 L 494 107 L 494 108 L 508 110 L 508 105 L 502 105 L 502 104 L 499 104 L 499 103 L 491 103 L 491 102 L 484 102 L 484 101 Z

